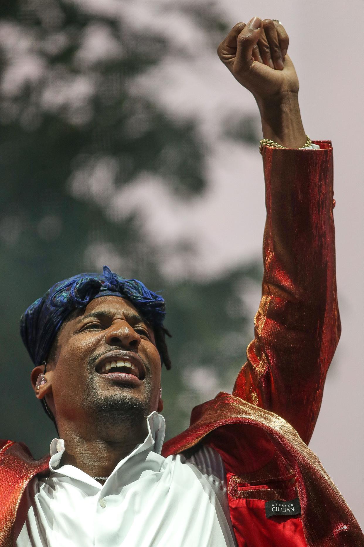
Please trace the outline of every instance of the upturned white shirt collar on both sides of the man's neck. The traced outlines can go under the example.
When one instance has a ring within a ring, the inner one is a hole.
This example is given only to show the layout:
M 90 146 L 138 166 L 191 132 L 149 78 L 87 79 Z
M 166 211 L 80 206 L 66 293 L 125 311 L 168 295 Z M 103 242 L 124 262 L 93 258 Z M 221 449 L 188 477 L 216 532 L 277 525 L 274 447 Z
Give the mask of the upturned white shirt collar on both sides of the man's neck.
M 158 414 L 158 412 L 154 411 L 151 412 L 149 416 L 146 417 L 147 420 L 147 427 L 148 427 L 148 434 L 146 438 L 144 439 L 143 443 L 139 443 L 135 446 L 135 449 L 128 454 L 125 458 L 121 460 L 121 462 L 118 463 L 117 467 L 120 467 L 121 464 L 126 462 L 128 459 L 133 457 L 134 455 L 141 453 L 141 452 L 156 452 L 160 455 L 160 452 L 162 452 L 162 446 L 165 436 L 165 420 L 164 416 L 162 414 Z M 53 439 L 50 445 L 50 455 L 51 459 L 49 461 L 49 468 L 50 471 L 53 473 L 58 472 L 62 467 L 59 467 L 59 462 L 61 462 L 62 455 L 64 453 L 65 446 L 64 446 L 64 440 L 63 439 Z M 73 466 L 63 466 L 65 467 L 73 467 Z

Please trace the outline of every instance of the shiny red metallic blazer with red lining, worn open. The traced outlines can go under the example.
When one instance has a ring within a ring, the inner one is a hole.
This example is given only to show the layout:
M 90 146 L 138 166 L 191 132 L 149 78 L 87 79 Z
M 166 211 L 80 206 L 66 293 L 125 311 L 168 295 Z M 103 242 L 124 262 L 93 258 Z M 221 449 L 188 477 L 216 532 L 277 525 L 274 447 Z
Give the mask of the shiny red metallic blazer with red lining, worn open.
M 307 444 L 341 333 L 335 274 L 333 156 L 264 147 L 267 219 L 264 278 L 255 338 L 232 395 L 193 409 L 190 427 L 163 456 L 217 450 L 225 464 L 231 521 L 239 547 L 358 547 L 364 536 Z M 27 446 L 0 441 L 0 546 L 14 543 L 22 493 L 47 474 Z M 267 501 L 299 498 L 301 515 L 266 517 Z

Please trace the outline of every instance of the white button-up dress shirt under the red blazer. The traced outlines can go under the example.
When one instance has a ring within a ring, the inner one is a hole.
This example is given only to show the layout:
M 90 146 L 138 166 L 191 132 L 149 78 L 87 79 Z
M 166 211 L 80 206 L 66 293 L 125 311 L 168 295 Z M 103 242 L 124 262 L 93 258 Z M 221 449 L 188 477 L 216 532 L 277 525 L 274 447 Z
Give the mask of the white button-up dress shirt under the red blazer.
M 236 547 L 220 455 L 203 447 L 164 458 L 164 417 L 152 412 L 147 426 L 104 485 L 62 465 L 64 441 L 53 439 L 49 478 L 35 476 L 21 499 L 15 545 Z

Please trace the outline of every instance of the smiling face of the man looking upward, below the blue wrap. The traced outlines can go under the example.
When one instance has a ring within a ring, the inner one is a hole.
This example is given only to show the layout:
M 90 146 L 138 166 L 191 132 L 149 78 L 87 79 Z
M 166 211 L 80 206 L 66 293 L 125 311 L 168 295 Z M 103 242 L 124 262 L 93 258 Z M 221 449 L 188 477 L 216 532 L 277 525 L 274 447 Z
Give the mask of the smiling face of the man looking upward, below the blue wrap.
M 132 366 L 106 370 L 115 362 Z M 128 300 L 102 296 L 59 333 L 46 399 L 60 431 L 62 422 L 77 421 L 115 429 L 157 410 L 160 374 L 152 328 Z

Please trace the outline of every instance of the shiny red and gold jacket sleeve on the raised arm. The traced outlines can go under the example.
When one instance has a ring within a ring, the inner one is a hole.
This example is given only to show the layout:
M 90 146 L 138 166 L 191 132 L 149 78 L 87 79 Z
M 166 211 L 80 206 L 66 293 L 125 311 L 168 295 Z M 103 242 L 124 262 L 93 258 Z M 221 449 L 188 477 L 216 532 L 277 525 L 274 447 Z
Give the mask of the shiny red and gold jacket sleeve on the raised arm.
M 308 444 L 341 334 L 331 141 L 264 147 L 264 277 L 254 340 L 233 395 L 275 412 Z

